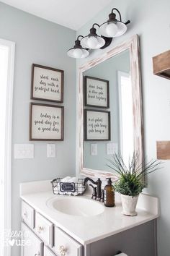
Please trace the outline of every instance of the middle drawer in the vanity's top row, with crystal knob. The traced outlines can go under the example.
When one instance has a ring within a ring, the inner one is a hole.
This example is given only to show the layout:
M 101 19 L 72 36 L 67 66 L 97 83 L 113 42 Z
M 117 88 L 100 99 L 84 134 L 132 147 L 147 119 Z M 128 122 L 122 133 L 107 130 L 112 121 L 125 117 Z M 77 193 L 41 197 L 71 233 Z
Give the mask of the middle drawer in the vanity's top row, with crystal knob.
M 53 247 L 53 223 L 40 215 L 40 213 L 35 213 L 35 231 L 45 244 Z

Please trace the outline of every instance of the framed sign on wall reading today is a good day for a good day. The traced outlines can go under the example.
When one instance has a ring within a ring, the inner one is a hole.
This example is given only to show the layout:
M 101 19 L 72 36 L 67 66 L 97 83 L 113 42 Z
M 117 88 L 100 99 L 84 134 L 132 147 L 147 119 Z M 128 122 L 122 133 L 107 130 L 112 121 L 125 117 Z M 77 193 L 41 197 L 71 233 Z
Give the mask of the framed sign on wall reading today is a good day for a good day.
M 30 140 L 63 140 L 63 106 L 30 103 Z

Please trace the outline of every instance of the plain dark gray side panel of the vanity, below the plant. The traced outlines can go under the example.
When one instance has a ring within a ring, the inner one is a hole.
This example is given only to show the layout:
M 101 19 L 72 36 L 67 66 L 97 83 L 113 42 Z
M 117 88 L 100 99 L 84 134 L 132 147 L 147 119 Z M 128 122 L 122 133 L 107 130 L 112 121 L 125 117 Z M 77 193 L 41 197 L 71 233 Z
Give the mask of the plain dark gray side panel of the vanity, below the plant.
M 157 256 L 156 220 L 88 244 L 84 256 L 114 256 L 118 251 L 128 256 Z

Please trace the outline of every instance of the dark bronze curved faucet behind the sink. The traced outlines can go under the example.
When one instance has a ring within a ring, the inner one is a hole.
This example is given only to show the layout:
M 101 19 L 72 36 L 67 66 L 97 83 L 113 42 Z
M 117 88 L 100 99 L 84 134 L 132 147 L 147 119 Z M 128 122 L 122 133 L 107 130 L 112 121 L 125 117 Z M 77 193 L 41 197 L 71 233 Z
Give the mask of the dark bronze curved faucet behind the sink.
M 87 182 L 91 182 L 94 185 L 97 185 L 97 187 L 93 187 L 91 185 L 91 187 L 93 187 L 93 195 L 92 195 L 92 199 L 98 200 L 98 201 L 102 201 L 103 202 L 103 192 L 102 192 L 102 181 L 101 179 L 97 179 L 97 182 L 94 182 L 93 179 L 86 177 L 84 179 L 84 186 L 87 184 Z

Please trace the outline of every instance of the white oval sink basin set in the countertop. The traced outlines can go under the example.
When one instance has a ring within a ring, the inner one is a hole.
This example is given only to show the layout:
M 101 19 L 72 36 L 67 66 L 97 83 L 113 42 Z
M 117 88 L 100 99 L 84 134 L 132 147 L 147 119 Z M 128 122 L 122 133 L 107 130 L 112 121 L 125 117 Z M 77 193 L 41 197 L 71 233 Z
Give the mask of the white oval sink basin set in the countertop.
M 47 201 L 48 208 L 71 216 L 97 216 L 104 212 L 104 206 L 84 197 L 53 197 Z

